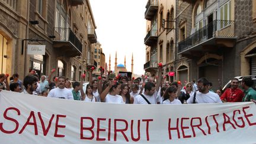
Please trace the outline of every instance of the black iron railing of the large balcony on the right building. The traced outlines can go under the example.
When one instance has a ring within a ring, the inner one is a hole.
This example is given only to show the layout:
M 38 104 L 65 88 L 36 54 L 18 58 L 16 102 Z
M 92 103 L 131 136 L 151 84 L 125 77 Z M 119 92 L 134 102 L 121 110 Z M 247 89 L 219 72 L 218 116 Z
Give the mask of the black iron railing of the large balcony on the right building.
M 178 43 L 178 53 L 203 43 L 213 37 L 232 38 L 235 37 L 235 21 L 215 20 L 200 28 L 191 36 Z

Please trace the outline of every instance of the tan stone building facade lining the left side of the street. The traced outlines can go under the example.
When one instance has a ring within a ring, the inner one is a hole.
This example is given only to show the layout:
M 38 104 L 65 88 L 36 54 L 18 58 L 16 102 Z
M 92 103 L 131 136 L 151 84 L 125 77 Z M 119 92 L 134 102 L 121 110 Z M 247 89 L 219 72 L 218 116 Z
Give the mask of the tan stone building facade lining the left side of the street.
M 88 0 L 12 0 L 0 1 L 0 6 L 0 39 L 7 41 L 0 47 L 7 47 L 7 56 L 1 57 L 6 65 L 2 73 L 19 73 L 23 79 L 31 69 L 49 75 L 55 68 L 53 75 L 79 81 L 97 65 L 97 27 Z M 28 44 L 46 45 L 45 55 L 28 55 Z

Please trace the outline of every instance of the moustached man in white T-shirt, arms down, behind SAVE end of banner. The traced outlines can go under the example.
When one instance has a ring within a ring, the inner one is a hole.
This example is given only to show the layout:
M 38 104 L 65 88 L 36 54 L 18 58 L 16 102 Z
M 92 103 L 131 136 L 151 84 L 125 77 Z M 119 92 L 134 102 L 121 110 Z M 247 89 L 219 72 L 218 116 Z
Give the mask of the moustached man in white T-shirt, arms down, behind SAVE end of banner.
M 65 88 L 65 82 L 65 76 L 59 76 L 59 78 L 57 79 L 58 87 L 52 89 L 47 95 L 47 97 L 73 100 L 73 94 L 69 89 Z

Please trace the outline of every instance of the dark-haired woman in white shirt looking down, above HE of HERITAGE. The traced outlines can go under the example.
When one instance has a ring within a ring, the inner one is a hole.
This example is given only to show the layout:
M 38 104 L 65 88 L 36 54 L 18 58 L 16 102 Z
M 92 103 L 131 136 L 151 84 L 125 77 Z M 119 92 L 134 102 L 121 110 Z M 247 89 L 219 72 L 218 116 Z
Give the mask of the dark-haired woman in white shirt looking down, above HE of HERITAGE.
M 181 101 L 177 99 L 177 88 L 171 86 L 165 90 L 162 104 L 181 104 Z

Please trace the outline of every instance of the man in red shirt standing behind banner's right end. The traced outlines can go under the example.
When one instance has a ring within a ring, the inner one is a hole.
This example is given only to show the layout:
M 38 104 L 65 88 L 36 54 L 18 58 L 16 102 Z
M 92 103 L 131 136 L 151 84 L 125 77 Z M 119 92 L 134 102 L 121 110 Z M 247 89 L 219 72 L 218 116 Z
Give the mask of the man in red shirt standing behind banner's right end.
M 231 80 L 231 88 L 227 88 L 225 92 L 223 92 L 220 99 L 223 103 L 226 102 L 241 102 L 244 97 L 244 93 L 241 89 L 238 88 L 239 81 L 237 78 L 233 78 Z

